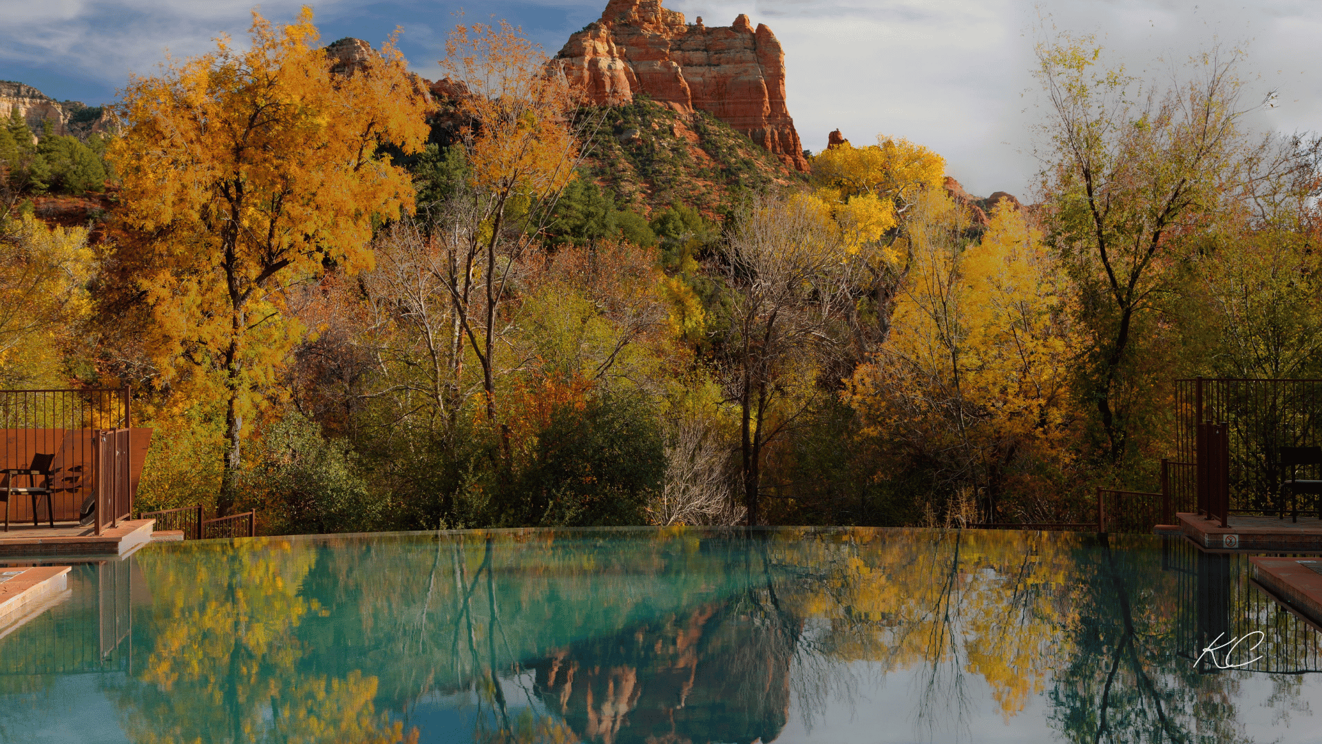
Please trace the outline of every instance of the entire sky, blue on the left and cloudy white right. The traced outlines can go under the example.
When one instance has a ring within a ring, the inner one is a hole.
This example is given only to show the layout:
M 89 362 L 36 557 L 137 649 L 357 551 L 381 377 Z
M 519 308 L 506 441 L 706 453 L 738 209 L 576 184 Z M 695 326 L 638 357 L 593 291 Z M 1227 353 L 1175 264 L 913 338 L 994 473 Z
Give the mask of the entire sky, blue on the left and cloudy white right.
M 0 79 L 56 99 L 110 103 L 130 73 L 151 74 L 167 50 L 204 53 L 218 34 L 246 36 L 251 11 L 286 23 L 307 0 L 0 0 Z M 320 0 L 323 41 L 379 45 L 397 28 L 418 74 L 439 77 L 460 20 L 506 19 L 554 54 L 596 20 L 605 0 Z M 1322 1 L 1317 0 L 665 0 L 690 21 L 764 23 L 785 50 L 787 98 L 804 147 L 839 128 L 854 144 L 904 136 L 947 159 L 972 193 L 1031 200 L 1036 126 L 1044 119 L 1034 48 L 1058 32 L 1092 33 L 1136 75 L 1169 81 L 1215 45 L 1240 49 L 1244 103 L 1264 131 L 1322 130 Z

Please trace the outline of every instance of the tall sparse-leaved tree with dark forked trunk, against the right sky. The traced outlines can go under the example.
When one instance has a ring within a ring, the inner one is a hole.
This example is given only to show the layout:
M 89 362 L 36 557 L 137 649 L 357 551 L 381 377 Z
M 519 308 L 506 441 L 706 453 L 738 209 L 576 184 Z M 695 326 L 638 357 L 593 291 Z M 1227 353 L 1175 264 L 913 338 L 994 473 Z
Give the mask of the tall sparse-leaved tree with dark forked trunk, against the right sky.
M 1245 128 L 1237 60 L 1202 54 L 1187 78 L 1161 87 L 1104 66 L 1092 37 L 1063 36 L 1038 49 L 1050 102 L 1046 218 L 1079 287 L 1089 336 L 1081 396 L 1096 410 L 1110 462 L 1124 458 L 1147 397 L 1136 364 L 1190 236 L 1251 208 L 1263 183 L 1289 167 L 1272 138 Z

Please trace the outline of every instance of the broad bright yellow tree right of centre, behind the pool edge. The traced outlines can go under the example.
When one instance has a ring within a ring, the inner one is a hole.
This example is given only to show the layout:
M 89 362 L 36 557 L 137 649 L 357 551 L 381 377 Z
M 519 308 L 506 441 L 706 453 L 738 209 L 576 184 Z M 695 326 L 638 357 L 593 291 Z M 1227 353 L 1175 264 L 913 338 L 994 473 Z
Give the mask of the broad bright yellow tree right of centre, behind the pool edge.
M 941 461 L 948 492 L 982 494 L 993 516 L 1017 462 L 1066 458 L 1071 306 L 1063 267 L 1021 212 L 1002 203 L 972 245 L 964 220 L 944 193 L 915 203 L 891 336 L 847 398 L 869 434 Z

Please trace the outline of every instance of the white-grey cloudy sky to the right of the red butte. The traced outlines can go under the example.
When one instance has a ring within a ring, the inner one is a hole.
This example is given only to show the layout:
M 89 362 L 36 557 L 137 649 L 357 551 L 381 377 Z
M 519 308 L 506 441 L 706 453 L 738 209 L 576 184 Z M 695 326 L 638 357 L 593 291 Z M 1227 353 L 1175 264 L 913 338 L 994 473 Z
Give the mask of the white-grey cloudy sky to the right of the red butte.
M 947 158 L 973 193 L 1026 195 L 1036 109 L 1034 45 L 1055 25 L 1096 33 L 1134 74 L 1166 74 L 1218 41 L 1248 50 L 1245 102 L 1280 89 L 1251 120 L 1281 131 L 1317 127 L 1313 73 L 1322 4 L 1222 0 L 670 0 L 707 25 L 738 13 L 765 23 L 785 48 L 788 103 L 804 146 L 839 127 L 855 143 L 906 136 Z

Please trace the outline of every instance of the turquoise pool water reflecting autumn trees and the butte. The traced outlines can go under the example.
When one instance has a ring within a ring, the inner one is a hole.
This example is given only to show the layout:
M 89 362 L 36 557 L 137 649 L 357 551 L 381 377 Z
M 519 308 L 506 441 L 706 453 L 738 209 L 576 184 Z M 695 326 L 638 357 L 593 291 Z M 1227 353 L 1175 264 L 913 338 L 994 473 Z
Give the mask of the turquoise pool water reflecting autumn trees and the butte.
M 1245 567 L 924 530 L 153 544 L 0 621 L 0 740 L 1322 740 L 1322 638 Z

